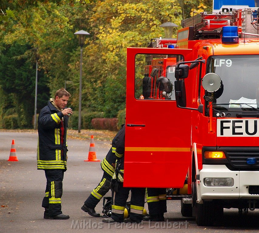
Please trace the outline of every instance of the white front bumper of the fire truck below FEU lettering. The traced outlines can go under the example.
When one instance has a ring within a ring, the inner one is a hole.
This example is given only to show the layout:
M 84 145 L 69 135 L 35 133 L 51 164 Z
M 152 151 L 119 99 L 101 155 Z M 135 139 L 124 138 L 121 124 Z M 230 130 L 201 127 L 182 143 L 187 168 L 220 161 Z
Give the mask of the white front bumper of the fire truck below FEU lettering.
M 259 185 L 259 171 L 230 171 L 225 165 L 203 165 L 197 182 L 198 202 L 205 199 L 259 199 L 259 194 L 249 194 L 249 185 Z M 232 187 L 207 187 L 206 177 L 232 177 Z

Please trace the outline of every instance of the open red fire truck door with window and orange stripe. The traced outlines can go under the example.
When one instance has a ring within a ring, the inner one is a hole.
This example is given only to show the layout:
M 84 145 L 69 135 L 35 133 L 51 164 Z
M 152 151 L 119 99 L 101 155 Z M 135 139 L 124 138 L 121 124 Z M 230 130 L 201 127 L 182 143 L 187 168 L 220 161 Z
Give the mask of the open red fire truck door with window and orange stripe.
M 150 76 L 144 70 L 148 64 L 150 67 L 152 59 L 175 56 L 178 62 L 190 60 L 190 51 L 153 48 L 127 50 L 125 187 L 183 187 L 191 159 L 191 111 L 176 107 L 174 93 L 162 99 L 143 99 L 140 96 L 141 81 L 144 76 Z M 161 67 L 156 67 L 160 72 L 158 76 L 169 76 L 169 72 L 174 71 L 172 66 L 162 68 L 161 63 Z M 153 88 L 154 93 L 158 91 L 156 85 Z

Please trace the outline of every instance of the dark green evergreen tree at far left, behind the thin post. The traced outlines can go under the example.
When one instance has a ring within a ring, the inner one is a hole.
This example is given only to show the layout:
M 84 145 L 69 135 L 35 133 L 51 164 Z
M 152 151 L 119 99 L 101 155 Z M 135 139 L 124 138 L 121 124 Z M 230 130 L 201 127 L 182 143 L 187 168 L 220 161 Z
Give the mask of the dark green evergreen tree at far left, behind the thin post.
M 29 50 L 28 50 L 29 49 Z M 29 52 L 28 52 L 29 51 Z M 5 45 L 5 50 L 0 54 L 0 85 L 3 93 L 9 96 L 9 105 L 3 109 L 15 108 L 18 114 L 18 124 L 20 128 L 32 127 L 32 116 L 34 114 L 35 99 L 35 62 L 32 63 L 30 46 L 14 43 L 12 46 Z M 42 108 L 42 97 L 46 97 L 49 89 L 46 86 L 46 77 L 43 72 L 39 72 L 39 102 Z M 41 95 L 43 94 L 43 95 Z M 6 100 L 1 99 L 4 105 Z M 3 112 L 4 115 L 7 113 Z

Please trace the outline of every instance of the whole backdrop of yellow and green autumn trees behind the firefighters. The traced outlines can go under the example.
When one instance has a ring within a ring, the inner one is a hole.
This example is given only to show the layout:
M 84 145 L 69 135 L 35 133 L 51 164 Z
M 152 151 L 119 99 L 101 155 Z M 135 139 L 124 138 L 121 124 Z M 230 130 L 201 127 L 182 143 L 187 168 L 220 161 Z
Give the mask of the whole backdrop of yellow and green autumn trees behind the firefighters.
M 0 92 L 2 88 L 10 96 L 9 104 L 0 100 L 0 106 L 3 113 L 15 109 L 19 127 L 32 127 L 32 48 L 39 54 L 37 109 L 69 81 L 69 106 L 77 110 L 80 47 L 74 32 L 88 31 L 83 49 L 82 108 L 104 112 L 101 117 L 116 117 L 125 108 L 127 47 L 146 47 L 151 38 L 164 36 L 159 25 L 181 25 L 185 12 L 187 18 L 193 10 L 211 11 L 212 0 L 17 0 L 1 1 L 0 6 L 5 12 L 0 14 Z M 74 111 L 73 128 L 78 125 L 75 118 Z M 82 127 L 91 127 L 88 118 L 85 122 L 82 117 Z

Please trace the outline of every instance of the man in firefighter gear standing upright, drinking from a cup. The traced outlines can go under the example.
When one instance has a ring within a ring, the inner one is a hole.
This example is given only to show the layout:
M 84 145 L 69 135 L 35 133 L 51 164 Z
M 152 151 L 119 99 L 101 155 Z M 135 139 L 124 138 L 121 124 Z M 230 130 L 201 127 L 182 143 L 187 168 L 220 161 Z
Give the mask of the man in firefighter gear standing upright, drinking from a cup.
M 42 207 L 45 208 L 44 218 L 49 219 L 69 218 L 62 214 L 61 196 L 67 160 L 68 117 L 73 114 L 70 108 L 66 108 L 70 96 L 64 88 L 57 90 L 54 99 L 50 98 L 39 113 L 37 169 L 44 170 L 47 179 Z

